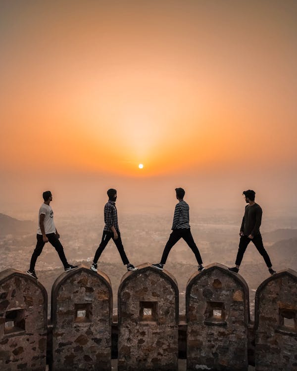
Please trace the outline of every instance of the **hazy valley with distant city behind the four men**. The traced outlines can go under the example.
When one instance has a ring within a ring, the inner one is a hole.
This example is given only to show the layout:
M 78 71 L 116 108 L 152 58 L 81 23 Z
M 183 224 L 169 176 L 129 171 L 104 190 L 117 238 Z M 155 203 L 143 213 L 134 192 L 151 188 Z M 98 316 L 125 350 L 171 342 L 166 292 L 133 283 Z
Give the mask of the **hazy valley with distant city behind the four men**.
M 233 266 L 239 241 L 239 227 L 242 215 L 238 212 L 211 210 L 201 216 L 191 216 L 191 230 L 198 244 L 203 264 L 218 262 Z M 91 265 L 101 239 L 103 221 L 101 215 L 93 211 L 55 215 L 55 223 L 60 233 L 70 263 Z M 160 261 L 164 244 L 171 232 L 172 215 L 137 214 L 119 212 L 120 231 L 123 244 L 130 261 L 134 265 Z M 285 268 L 297 270 L 297 218 L 265 218 L 261 227 L 264 246 L 267 249 L 275 270 Z M 2 259 L 0 270 L 13 268 L 26 271 L 36 244 L 37 221 L 20 221 L 12 216 L 0 214 L 0 249 Z M 98 268 L 105 272 L 117 292 L 122 276 L 126 273 L 118 251 L 109 242 L 99 259 Z M 195 257 L 181 240 L 171 250 L 165 269 L 177 279 L 180 292 L 180 314 L 185 312 L 185 290 L 188 279 L 196 272 Z M 54 248 L 47 244 L 39 257 L 36 271 L 40 282 L 50 289 L 53 281 L 62 272 L 62 265 Z M 240 269 L 250 289 L 251 318 L 256 288 L 269 276 L 262 257 L 250 243 Z M 50 302 L 50 300 L 49 300 Z M 114 295 L 114 313 L 117 311 L 117 296 Z

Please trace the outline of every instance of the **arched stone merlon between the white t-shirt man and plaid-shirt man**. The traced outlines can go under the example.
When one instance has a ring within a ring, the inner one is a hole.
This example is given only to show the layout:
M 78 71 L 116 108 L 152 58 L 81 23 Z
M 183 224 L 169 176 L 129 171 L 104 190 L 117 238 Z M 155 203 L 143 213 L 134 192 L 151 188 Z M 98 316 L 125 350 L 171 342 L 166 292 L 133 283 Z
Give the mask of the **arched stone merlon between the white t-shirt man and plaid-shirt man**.
M 52 369 L 111 370 L 112 290 L 103 272 L 82 265 L 51 290 Z

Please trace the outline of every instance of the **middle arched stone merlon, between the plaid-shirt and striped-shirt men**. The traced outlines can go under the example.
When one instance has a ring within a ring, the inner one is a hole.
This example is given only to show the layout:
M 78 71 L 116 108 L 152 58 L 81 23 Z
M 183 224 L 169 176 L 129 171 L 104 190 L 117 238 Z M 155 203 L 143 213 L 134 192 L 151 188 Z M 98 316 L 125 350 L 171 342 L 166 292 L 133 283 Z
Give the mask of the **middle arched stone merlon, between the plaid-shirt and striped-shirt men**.
M 178 286 L 145 263 L 118 290 L 118 371 L 178 369 Z

